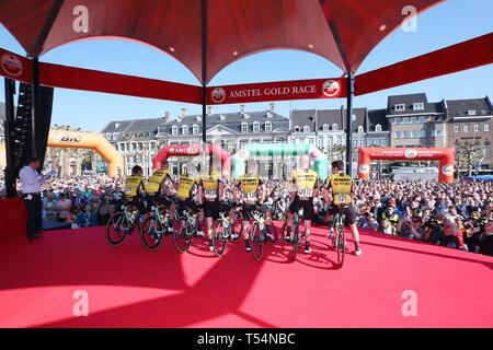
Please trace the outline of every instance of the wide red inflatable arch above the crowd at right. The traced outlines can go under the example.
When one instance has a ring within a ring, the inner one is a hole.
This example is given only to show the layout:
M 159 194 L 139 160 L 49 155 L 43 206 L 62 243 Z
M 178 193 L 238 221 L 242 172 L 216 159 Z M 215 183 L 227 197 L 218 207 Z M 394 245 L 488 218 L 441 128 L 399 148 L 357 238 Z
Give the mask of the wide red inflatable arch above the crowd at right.
M 359 148 L 358 177 L 368 179 L 371 160 L 386 161 L 439 161 L 438 180 L 454 182 L 454 148 L 443 149 L 403 149 L 403 148 Z

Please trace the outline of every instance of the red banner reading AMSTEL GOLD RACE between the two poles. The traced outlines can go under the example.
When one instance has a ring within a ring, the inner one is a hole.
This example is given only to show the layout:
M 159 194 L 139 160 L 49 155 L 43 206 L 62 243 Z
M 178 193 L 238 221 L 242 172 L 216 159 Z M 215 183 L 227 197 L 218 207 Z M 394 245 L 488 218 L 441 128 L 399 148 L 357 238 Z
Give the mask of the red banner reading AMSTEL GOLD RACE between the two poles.
M 346 79 L 328 78 L 207 88 L 207 104 L 346 97 Z

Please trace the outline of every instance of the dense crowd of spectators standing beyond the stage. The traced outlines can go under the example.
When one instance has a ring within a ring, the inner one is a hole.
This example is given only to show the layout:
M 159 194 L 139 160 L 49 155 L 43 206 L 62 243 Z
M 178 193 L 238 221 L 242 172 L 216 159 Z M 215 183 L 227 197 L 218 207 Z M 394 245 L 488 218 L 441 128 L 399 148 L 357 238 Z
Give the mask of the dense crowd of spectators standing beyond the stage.
M 225 200 L 233 200 L 233 180 L 225 180 Z M 124 203 L 123 188 L 123 178 L 53 178 L 43 186 L 43 218 L 72 228 L 105 225 Z M 290 182 L 267 179 L 265 188 L 274 220 L 283 220 Z M 491 182 L 358 179 L 354 191 L 363 229 L 493 256 Z M 318 220 L 324 221 L 326 203 L 320 199 L 314 206 Z

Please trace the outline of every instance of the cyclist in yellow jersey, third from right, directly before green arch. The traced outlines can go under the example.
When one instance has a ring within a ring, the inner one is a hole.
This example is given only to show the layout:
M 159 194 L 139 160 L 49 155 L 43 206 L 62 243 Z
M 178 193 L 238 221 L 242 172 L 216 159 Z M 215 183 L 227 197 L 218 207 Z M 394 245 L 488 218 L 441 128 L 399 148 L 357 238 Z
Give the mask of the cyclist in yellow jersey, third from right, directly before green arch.
M 246 163 L 246 173 L 238 178 L 237 185 L 233 187 L 233 197 L 237 205 L 240 203 L 240 199 L 238 196 L 238 191 L 241 189 L 243 194 L 243 206 L 242 206 L 242 232 L 244 244 L 246 246 L 246 252 L 252 250 L 249 241 L 249 224 L 250 221 L 253 220 L 252 211 L 259 209 L 260 211 L 266 213 L 266 232 L 271 234 L 272 224 L 271 220 L 271 210 L 267 206 L 261 203 L 265 199 L 265 185 L 262 180 L 262 177 L 255 173 L 256 164 L 255 161 L 249 160 Z M 260 206 L 260 208 L 259 208 Z

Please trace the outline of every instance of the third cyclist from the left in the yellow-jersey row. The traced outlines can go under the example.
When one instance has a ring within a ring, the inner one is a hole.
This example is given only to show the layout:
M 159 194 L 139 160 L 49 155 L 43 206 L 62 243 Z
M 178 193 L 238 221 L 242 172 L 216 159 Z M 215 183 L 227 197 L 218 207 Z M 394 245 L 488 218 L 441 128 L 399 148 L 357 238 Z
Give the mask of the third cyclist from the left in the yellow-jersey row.
M 194 194 L 198 190 L 198 178 L 196 177 L 197 170 L 194 163 L 188 163 L 187 172 L 180 175 L 180 182 L 177 185 L 177 203 L 171 206 L 170 218 L 174 218 L 174 211 L 183 212 L 185 210 L 198 211 L 198 205 L 194 200 Z M 197 235 L 204 236 L 202 232 L 202 221 L 197 223 L 199 228 Z

